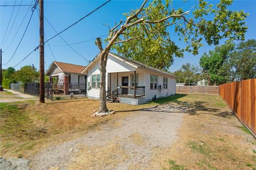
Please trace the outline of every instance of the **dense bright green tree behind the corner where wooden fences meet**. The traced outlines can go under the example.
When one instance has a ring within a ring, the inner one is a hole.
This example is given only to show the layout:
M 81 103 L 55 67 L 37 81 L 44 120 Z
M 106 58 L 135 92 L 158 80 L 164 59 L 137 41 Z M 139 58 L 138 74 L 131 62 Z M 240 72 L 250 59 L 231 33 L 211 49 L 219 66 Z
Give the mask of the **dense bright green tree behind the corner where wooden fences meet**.
M 234 46 L 234 44 L 217 46 L 209 54 L 204 53 L 200 58 L 199 63 L 203 69 L 203 73 L 208 77 L 209 85 L 219 85 L 229 81 L 229 69 L 227 69 L 228 65 L 225 62 L 228 60 Z

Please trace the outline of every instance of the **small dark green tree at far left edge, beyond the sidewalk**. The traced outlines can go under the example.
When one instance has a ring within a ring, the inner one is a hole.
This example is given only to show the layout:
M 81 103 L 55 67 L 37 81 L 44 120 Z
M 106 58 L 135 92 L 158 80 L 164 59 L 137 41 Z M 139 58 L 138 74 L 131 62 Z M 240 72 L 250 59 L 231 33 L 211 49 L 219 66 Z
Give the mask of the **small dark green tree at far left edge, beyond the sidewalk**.
M 2 70 L 3 73 L 3 88 L 9 89 L 11 83 L 16 83 L 15 81 L 15 69 L 13 67 L 8 67 Z

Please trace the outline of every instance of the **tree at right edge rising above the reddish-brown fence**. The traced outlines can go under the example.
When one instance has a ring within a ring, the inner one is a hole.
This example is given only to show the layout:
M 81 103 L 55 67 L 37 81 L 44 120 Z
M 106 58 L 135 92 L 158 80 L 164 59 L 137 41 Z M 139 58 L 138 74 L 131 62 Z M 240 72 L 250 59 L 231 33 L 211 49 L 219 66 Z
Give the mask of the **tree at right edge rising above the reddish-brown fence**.
M 230 67 L 231 81 L 256 78 L 256 40 L 239 43 L 226 65 Z

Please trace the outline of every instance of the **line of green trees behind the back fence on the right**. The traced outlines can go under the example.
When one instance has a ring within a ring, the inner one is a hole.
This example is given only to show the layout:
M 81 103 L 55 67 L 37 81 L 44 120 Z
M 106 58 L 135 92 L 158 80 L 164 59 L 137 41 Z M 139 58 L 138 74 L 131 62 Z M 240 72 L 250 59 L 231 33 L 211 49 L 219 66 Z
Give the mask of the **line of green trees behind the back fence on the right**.
M 256 40 L 217 46 L 204 53 L 199 66 L 189 63 L 173 72 L 177 82 L 190 84 L 206 79 L 209 85 L 256 78 Z

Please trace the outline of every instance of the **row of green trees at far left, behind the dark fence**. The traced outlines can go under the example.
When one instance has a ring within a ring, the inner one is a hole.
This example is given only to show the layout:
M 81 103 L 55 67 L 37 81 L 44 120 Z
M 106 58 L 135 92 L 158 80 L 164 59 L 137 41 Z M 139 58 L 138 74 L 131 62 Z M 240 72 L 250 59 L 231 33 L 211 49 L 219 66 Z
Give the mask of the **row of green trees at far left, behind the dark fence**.
M 15 70 L 13 67 L 2 70 L 3 73 L 3 88 L 9 89 L 11 83 L 22 82 L 23 84 L 29 82 L 38 82 L 39 72 L 31 65 L 25 65 L 20 70 Z

